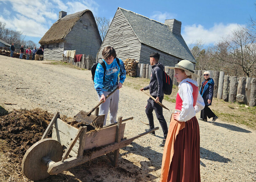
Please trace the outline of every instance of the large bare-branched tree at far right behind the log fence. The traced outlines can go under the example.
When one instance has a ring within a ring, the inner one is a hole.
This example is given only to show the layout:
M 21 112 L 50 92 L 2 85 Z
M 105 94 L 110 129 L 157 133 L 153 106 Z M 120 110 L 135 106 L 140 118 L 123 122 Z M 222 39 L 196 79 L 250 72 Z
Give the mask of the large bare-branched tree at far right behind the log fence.
M 215 45 L 212 55 L 221 61 L 227 70 L 252 77 L 256 75 L 256 39 L 248 32 L 248 29 L 243 27 L 233 31 Z

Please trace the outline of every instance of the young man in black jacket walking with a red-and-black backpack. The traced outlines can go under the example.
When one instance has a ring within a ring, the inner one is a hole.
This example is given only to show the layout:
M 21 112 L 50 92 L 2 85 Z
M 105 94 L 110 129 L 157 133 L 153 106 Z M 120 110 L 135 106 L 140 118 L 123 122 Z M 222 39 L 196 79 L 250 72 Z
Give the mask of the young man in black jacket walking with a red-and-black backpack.
M 163 70 L 164 66 L 158 62 L 160 55 L 158 52 L 152 53 L 150 56 L 150 65 L 152 65 L 152 72 L 151 72 L 151 78 L 149 82 L 149 86 L 146 86 L 144 88 L 141 88 L 142 90 L 148 90 L 150 95 L 152 95 L 156 101 L 160 101 L 162 103 L 163 101 Z M 163 129 L 163 136 L 164 140 L 160 144 L 160 146 L 165 145 L 165 139 L 167 137 L 168 133 L 168 127 L 167 123 L 165 121 L 165 118 L 163 117 L 163 107 L 161 107 L 159 104 L 157 104 L 152 98 L 149 98 L 147 100 L 147 107 L 146 107 L 146 114 L 147 118 L 149 120 L 149 128 L 153 129 L 154 126 L 154 118 L 153 118 L 153 110 L 155 110 L 155 114 L 157 115 L 157 119 L 160 122 L 160 125 Z M 146 131 L 148 131 L 146 129 Z M 155 136 L 155 132 L 151 133 Z

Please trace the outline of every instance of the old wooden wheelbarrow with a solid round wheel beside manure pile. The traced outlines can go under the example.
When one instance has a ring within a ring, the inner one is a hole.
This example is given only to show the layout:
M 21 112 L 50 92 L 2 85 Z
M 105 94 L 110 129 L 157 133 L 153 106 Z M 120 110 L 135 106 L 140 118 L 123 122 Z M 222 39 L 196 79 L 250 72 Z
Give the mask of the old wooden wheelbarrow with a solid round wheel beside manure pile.
M 115 151 L 114 159 L 111 160 L 112 165 L 117 166 L 120 148 L 128 146 L 136 138 L 159 129 L 155 127 L 126 139 L 123 137 L 126 120 L 122 120 L 122 117 L 118 118 L 118 122 L 105 125 L 102 129 L 90 133 L 86 133 L 86 126 L 77 129 L 58 117 L 59 113 L 56 113 L 42 139 L 32 145 L 24 155 L 22 171 L 31 180 L 45 179 L 112 151 Z M 53 128 L 52 138 L 46 138 L 51 128 Z

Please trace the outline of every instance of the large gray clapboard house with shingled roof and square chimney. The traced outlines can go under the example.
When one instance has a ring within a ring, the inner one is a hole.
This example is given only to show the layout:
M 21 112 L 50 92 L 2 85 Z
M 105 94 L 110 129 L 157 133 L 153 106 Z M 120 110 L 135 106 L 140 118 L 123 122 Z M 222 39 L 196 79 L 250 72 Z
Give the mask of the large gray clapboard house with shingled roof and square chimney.
M 173 66 L 184 59 L 196 62 L 181 36 L 180 21 L 160 23 L 123 8 L 117 8 L 98 57 L 107 46 L 114 47 L 122 60 L 131 58 L 148 64 L 149 55 L 159 52 L 159 62 L 163 65 Z

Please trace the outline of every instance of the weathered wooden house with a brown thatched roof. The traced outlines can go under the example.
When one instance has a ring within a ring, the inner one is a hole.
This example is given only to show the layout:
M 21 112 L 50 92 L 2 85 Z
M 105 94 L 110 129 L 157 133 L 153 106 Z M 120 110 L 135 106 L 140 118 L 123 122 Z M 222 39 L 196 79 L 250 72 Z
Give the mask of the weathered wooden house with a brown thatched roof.
M 45 33 L 39 43 L 45 60 L 62 60 L 64 50 L 96 57 L 102 40 L 93 13 L 83 10 L 67 15 L 59 12 L 59 19 Z

